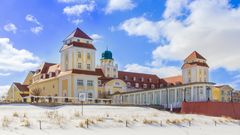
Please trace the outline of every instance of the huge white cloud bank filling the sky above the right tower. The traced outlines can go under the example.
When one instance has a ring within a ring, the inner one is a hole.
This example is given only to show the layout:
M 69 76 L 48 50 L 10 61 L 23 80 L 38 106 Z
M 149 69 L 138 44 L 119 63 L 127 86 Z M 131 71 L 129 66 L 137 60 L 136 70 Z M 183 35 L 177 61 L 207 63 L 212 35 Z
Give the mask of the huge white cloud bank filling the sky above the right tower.
M 162 20 L 132 18 L 120 28 L 150 41 L 166 41 L 152 52 L 152 63 L 182 61 L 196 50 L 208 59 L 211 69 L 240 71 L 240 8 L 233 8 L 227 0 L 181 1 L 166 4 Z

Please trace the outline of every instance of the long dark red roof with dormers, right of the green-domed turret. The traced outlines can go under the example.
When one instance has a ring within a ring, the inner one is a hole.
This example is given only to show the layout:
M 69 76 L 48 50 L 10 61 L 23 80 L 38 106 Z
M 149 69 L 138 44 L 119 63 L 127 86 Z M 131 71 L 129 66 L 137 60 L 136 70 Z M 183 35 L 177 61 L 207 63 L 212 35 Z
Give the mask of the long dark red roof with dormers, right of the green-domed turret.
M 125 78 L 125 76 L 127 77 L 127 79 Z M 135 81 L 133 80 L 134 77 L 136 78 Z M 155 86 L 155 88 L 159 87 L 159 78 L 157 75 L 153 74 L 118 71 L 118 78 L 126 83 L 131 83 L 131 87 L 135 87 L 136 83 L 139 84 L 139 88 L 143 88 L 144 84 L 147 85 L 145 89 L 151 89 L 152 84 Z M 149 79 L 151 79 L 151 81 Z

